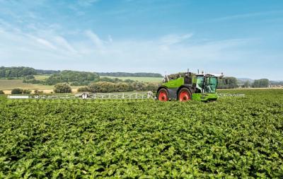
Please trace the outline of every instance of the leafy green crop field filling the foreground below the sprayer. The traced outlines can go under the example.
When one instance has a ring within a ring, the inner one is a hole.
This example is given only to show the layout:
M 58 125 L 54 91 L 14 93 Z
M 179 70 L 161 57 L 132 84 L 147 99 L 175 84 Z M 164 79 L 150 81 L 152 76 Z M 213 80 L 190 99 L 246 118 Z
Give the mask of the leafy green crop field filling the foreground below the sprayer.
M 241 93 L 214 103 L 1 98 L 0 178 L 282 178 L 283 90 Z

